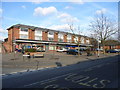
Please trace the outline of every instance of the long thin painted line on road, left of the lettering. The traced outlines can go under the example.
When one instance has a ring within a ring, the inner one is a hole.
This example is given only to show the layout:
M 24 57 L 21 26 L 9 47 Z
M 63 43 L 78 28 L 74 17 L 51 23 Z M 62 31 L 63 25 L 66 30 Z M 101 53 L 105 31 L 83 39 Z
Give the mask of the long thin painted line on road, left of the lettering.
M 24 85 L 24 87 L 35 85 L 35 84 L 38 84 L 38 83 L 40 83 L 42 85 L 42 84 L 45 84 L 47 82 L 52 82 L 54 80 L 57 80 L 58 78 L 61 78 L 61 77 L 64 77 L 64 76 L 67 76 L 67 75 L 70 75 L 70 74 L 72 74 L 72 73 L 68 73 L 68 74 L 61 75 L 61 76 L 58 76 L 58 77 L 54 77 L 54 78 L 51 78 L 51 79 L 47 79 L 47 80 L 43 80 L 43 81 L 40 81 L 40 82 L 35 82 L 35 83 L 32 83 L 32 84 Z

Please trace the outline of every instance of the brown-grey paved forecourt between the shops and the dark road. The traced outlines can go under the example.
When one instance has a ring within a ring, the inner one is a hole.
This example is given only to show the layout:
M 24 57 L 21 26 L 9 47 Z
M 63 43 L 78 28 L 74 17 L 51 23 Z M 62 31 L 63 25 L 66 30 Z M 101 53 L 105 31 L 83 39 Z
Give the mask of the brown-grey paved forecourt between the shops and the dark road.
M 86 53 L 83 55 L 67 55 L 59 52 L 46 52 L 44 58 L 25 58 L 23 60 L 21 53 L 9 53 L 2 54 L 2 74 L 24 72 L 27 70 L 36 70 L 43 68 L 52 68 L 57 67 L 56 62 L 60 62 L 62 66 L 71 65 L 83 61 L 93 60 L 97 58 L 105 58 L 110 56 L 115 56 L 117 54 L 100 54 L 100 57 L 97 55 L 86 56 Z

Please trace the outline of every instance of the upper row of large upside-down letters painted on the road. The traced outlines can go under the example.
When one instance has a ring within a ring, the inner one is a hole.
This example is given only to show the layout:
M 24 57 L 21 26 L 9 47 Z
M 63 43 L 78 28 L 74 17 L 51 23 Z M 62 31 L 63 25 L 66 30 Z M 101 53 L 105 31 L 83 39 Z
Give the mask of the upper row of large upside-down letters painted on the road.
M 65 78 L 66 81 L 71 81 L 79 85 L 93 87 L 93 88 L 104 88 L 110 80 L 98 80 L 98 78 L 91 78 L 90 76 L 71 74 Z

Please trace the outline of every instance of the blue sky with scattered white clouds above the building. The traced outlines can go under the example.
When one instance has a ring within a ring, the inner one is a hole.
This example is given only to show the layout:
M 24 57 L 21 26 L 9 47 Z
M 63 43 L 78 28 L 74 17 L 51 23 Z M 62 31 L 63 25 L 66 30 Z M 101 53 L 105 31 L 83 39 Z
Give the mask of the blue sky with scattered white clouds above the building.
M 15 24 L 32 25 L 70 32 L 69 25 L 79 27 L 89 36 L 90 22 L 103 12 L 118 18 L 118 2 L 2 2 L 0 3 L 0 40 L 8 37 L 7 28 Z M 78 33 L 78 31 L 74 31 Z

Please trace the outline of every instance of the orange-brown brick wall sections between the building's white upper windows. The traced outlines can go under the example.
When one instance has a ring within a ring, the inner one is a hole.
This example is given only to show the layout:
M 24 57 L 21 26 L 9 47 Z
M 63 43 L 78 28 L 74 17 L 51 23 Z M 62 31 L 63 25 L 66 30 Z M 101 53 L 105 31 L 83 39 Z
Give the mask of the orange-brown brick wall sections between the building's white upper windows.
M 26 32 L 27 33 L 27 32 Z M 35 30 L 32 30 L 32 29 L 28 29 L 28 39 L 31 39 L 31 40 L 35 40 Z M 61 36 L 59 36 L 59 34 L 62 34 Z M 8 41 L 7 42 L 4 42 L 4 46 L 5 48 L 9 51 L 9 52 L 12 52 L 14 51 L 14 45 L 12 43 L 12 41 L 14 39 L 21 39 L 20 38 L 20 35 L 21 35 L 21 30 L 19 28 L 10 28 L 8 30 Z M 75 35 L 73 34 L 70 34 L 71 35 L 71 42 L 72 43 L 75 43 L 74 41 L 74 38 L 75 38 Z M 63 37 L 62 37 L 63 36 Z M 67 40 L 67 33 L 63 33 L 63 32 L 54 32 L 54 39 L 53 41 L 58 41 L 58 37 L 61 38 L 62 37 L 62 40 L 63 42 L 68 42 Z M 83 36 L 82 36 L 83 37 Z M 84 37 L 83 37 L 84 38 Z M 23 38 L 24 39 L 24 38 Z M 45 40 L 45 41 L 48 41 L 48 31 L 42 31 L 42 40 Z M 81 37 L 78 36 L 78 41 L 81 42 Z M 86 43 L 86 39 L 84 38 L 84 43 L 83 44 L 87 44 Z M 90 43 L 89 43 L 90 44 Z M 52 46 L 50 47 L 52 49 Z M 71 47 L 72 48 L 72 47 Z

